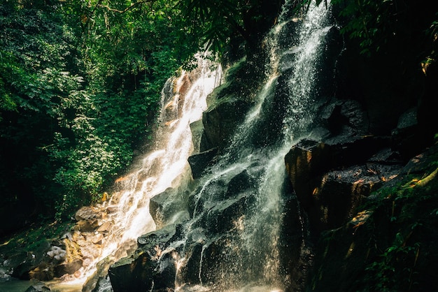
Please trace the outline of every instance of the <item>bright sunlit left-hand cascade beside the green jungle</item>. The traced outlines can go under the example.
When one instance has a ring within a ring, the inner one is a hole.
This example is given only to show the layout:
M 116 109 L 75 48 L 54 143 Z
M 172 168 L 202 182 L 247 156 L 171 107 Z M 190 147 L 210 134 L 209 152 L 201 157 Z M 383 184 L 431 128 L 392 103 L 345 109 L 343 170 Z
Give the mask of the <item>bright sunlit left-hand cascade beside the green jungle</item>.
M 206 96 L 220 84 L 222 75 L 220 66 L 214 71 L 211 68 L 211 62 L 198 58 L 195 71 L 183 71 L 179 78 L 167 81 L 155 146 L 136 167 L 138 170 L 116 181 L 120 191 L 102 205 L 92 207 L 90 216 L 99 214 L 97 231 L 85 236 L 79 231 L 68 235 L 80 246 L 83 268 L 74 277 L 52 286 L 52 291 L 91 291 L 98 277 L 106 275 L 109 265 L 135 250 L 140 235 L 155 230 L 150 198 L 169 187 L 183 187 L 190 175 L 188 156 L 194 149 L 190 124 L 201 119 Z

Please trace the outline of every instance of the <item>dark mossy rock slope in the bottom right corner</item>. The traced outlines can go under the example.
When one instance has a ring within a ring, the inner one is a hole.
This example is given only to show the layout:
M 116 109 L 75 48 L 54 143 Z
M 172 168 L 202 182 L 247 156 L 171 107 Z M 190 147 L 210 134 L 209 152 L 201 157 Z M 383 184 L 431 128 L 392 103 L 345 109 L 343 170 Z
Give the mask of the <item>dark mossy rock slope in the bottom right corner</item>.
M 394 291 L 437 286 L 438 197 L 431 178 L 437 175 L 437 146 L 384 182 L 346 224 L 321 233 L 308 281 L 312 291 L 377 291 L 387 279 Z M 381 265 L 390 278 L 381 277 Z

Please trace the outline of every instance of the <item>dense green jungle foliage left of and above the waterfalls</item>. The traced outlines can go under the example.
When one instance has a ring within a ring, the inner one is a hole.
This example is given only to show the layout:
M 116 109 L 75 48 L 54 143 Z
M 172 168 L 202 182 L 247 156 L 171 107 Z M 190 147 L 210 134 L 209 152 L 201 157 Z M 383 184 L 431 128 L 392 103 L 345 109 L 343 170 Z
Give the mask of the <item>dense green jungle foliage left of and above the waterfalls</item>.
M 257 50 L 282 2 L 2 1 L 0 235 L 101 200 L 147 149 L 165 80 L 205 48 L 220 60 L 243 44 L 241 54 Z M 303 9 L 310 1 L 295 2 Z M 411 2 L 332 0 L 363 54 L 383 50 L 411 13 L 435 14 Z M 437 57 L 437 15 L 421 27 L 426 71 Z

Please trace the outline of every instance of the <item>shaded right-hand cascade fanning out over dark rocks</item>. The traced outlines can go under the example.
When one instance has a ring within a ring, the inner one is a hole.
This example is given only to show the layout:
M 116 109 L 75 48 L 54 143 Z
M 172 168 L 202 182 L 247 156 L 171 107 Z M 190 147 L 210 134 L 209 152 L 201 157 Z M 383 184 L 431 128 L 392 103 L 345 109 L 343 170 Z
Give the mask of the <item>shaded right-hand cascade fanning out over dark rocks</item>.
M 176 291 L 281 291 L 290 284 L 282 271 L 279 248 L 287 188 L 284 156 L 295 140 L 308 134 L 313 122 L 318 57 L 330 26 L 325 23 L 327 8 L 311 6 L 299 26 L 298 40 L 291 40 L 283 50 L 278 48 L 278 38 L 283 37 L 283 27 L 294 21 L 286 15 L 288 11 L 283 10 L 267 40 L 271 47 L 267 82 L 229 147 L 197 180 L 188 198 L 190 220 L 174 226 L 164 249 L 155 245 L 152 258 L 157 258 L 157 267 L 151 273 L 157 277 L 150 276 L 152 284 L 147 289 L 151 291 L 169 288 L 160 279 L 164 275 L 173 275 L 169 289 Z M 286 79 L 283 88 L 278 88 L 280 76 Z M 261 145 L 257 141 L 264 134 L 258 133 L 260 126 L 269 124 L 264 110 L 273 108 L 269 104 L 278 92 L 288 96 L 278 113 L 280 138 Z M 153 238 L 168 236 L 163 234 Z M 149 244 L 148 235 L 139 242 Z

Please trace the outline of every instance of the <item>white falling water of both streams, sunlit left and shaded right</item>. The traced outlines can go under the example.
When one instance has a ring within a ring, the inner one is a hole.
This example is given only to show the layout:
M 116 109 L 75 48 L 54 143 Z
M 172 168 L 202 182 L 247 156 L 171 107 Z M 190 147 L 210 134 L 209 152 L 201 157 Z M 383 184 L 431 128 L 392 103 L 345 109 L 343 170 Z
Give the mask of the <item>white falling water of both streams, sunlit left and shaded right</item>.
M 327 8 L 323 4 L 315 8 L 311 5 L 306 17 L 298 21 L 298 38 L 291 39 L 288 48 L 279 48 L 278 38 L 285 35 L 283 29 L 297 21 L 287 16 L 288 2 L 278 24 L 267 36 L 270 50 L 267 82 L 257 93 L 253 108 L 236 129 L 229 147 L 197 180 L 197 186 L 192 187 L 190 220 L 183 224 L 181 238 L 170 242 L 161 253 L 162 258 L 171 254 L 175 259 L 176 291 L 283 291 L 285 288 L 278 248 L 286 176 L 283 159 L 294 141 L 307 134 L 313 122 L 312 104 L 317 94 L 313 83 L 318 74 L 323 37 L 330 29 L 326 23 Z M 282 40 L 285 41 L 288 42 Z M 155 147 L 131 174 L 118 180 L 120 191 L 98 206 L 98 212 L 105 214 L 99 224 L 106 224 L 106 235 L 99 245 L 83 240 L 83 268 L 67 279 L 71 286 L 76 279 L 78 285 L 85 286 L 84 291 L 90 291 L 97 281 L 96 275 L 105 275 L 111 263 L 136 249 L 140 235 L 154 231 L 161 224 L 150 214 L 150 198 L 169 188 L 189 189 L 188 157 L 194 150 L 190 124 L 201 119 L 206 110 L 206 95 L 221 80 L 220 68 L 210 71 L 206 65 L 211 64 L 200 62 L 197 71 L 183 72 L 164 86 Z M 288 75 L 288 80 L 281 85 L 285 88 L 279 89 L 278 79 L 282 74 Z M 261 112 L 269 108 L 267 104 L 274 101 L 279 90 L 289 96 L 280 121 L 281 137 L 271 145 L 254 143 L 253 137 L 260 131 Z M 167 224 L 180 221 L 175 214 Z M 59 291 L 66 291 L 62 287 L 58 286 Z M 55 286 L 53 289 L 56 291 Z

